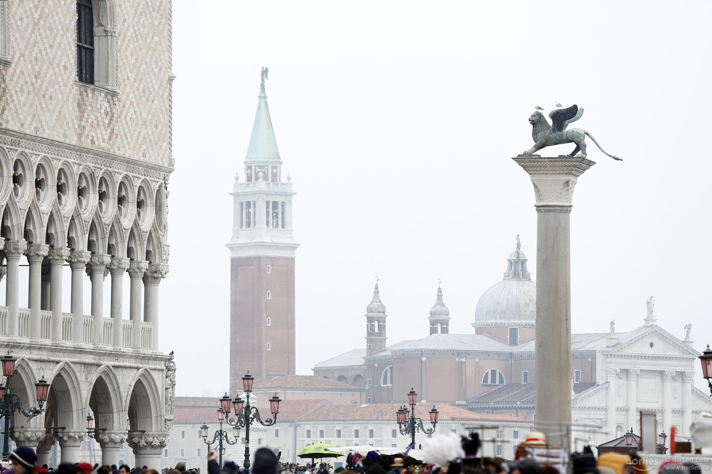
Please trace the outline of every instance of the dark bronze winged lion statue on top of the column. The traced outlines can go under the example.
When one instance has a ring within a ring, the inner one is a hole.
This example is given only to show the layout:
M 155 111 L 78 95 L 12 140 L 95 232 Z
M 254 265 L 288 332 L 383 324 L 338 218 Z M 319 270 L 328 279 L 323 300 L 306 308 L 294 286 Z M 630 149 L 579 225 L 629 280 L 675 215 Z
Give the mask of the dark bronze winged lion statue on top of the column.
M 540 107 L 539 107 L 540 108 Z M 586 130 L 581 128 L 572 128 L 566 130 L 566 127 L 571 122 L 579 120 L 583 115 L 583 107 L 579 108 L 577 105 L 572 105 L 565 109 L 554 109 L 549 112 L 549 118 L 552 121 L 552 125 L 549 125 L 548 120 L 542 115 L 538 110 L 534 112 L 531 117 L 529 117 L 529 123 L 532 125 L 532 138 L 534 139 L 534 146 L 526 150 L 524 154 L 533 154 L 544 147 L 550 147 L 555 144 L 563 143 L 575 143 L 576 148 L 567 156 L 577 158 L 586 157 L 586 143 L 584 142 L 585 135 L 587 135 L 596 146 L 613 159 L 621 160 L 619 157 L 614 157 L 612 154 L 608 154 L 601 145 L 598 144 L 596 139 Z M 576 154 L 578 152 L 578 154 Z M 622 160 L 621 160 L 622 161 Z

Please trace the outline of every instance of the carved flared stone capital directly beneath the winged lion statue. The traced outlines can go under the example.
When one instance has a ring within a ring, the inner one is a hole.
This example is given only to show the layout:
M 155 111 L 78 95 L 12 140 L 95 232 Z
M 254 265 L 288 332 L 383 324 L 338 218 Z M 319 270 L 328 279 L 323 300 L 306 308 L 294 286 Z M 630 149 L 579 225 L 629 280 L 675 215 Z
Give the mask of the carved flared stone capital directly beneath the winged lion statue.
M 537 204 L 571 204 L 577 178 L 595 164 L 573 157 L 518 157 L 514 161 L 531 177 Z

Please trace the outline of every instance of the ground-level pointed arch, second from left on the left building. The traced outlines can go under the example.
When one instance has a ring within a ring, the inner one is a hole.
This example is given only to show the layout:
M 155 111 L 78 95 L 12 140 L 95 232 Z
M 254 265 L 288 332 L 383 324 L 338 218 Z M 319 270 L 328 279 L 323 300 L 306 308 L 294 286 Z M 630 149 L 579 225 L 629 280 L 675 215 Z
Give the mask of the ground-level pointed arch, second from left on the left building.
M 51 376 L 45 410 L 45 426 L 85 429 L 85 414 L 79 376 L 70 362 L 56 365 Z

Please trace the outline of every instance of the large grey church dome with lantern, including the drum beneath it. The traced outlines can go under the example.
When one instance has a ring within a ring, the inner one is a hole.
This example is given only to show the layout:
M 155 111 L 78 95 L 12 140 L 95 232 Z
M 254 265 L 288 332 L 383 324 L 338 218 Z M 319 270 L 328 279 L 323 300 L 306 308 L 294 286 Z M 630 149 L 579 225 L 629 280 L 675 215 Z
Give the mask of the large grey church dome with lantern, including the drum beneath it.
M 472 325 L 476 334 L 516 345 L 533 339 L 536 320 L 536 283 L 527 270 L 519 236 L 507 262 L 502 281 L 488 288 L 477 302 Z

